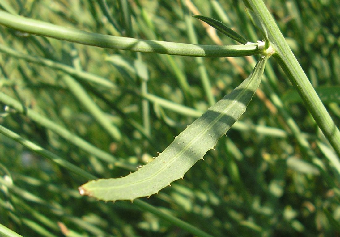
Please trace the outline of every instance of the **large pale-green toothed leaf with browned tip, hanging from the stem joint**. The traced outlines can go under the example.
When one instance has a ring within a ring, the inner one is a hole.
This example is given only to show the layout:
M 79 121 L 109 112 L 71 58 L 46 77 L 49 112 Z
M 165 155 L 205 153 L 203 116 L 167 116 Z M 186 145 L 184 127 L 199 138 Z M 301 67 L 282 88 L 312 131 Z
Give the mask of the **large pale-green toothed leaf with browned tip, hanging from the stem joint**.
M 80 193 L 104 201 L 133 200 L 183 178 L 245 112 L 268 57 L 261 57 L 246 80 L 189 125 L 153 162 L 122 178 L 92 180 L 79 187 Z

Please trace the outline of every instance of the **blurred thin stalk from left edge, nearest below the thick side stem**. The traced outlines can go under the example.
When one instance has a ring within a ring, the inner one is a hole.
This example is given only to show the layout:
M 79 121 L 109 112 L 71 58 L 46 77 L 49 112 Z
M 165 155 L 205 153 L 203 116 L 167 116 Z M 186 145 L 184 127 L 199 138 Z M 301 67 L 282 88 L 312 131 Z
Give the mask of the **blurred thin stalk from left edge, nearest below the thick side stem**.
M 95 75 L 89 72 L 85 72 L 85 71 L 81 71 L 81 70 L 77 70 L 74 67 L 70 67 L 66 64 L 62 64 L 62 63 L 58 63 L 55 62 L 53 60 L 49 60 L 47 58 L 43 58 L 43 57 L 37 57 L 37 56 L 31 56 L 28 54 L 24 54 L 22 52 L 19 52 L 17 50 L 14 50 L 10 47 L 6 47 L 2 44 L 0 44 L 0 52 L 3 53 L 7 53 L 13 57 L 19 58 L 19 59 L 23 59 L 26 60 L 28 62 L 31 63 L 37 63 L 37 64 L 41 64 L 53 69 L 57 69 L 57 70 L 61 70 L 63 72 L 66 72 L 74 77 L 77 77 L 79 79 L 88 81 L 88 82 L 93 82 L 99 85 L 102 85 L 104 87 L 110 88 L 110 89 L 117 89 L 118 87 L 111 81 L 100 77 L 99 75 Z

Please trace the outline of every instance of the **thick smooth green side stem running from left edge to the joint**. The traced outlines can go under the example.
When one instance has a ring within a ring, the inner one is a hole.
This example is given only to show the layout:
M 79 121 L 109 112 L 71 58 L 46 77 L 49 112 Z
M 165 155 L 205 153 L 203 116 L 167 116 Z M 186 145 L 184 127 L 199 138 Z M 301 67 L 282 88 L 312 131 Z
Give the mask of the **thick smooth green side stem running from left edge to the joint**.
M 192 45 L 89 33 L 69 27 L 56 26 L 44 21 L 15 16 L 2 10 L 0 10 L 0 24 L 19 31 L 67 40 L 74 43 L 136 52 L 195 57 L 239 57 L 260 53 L 256 45 Z

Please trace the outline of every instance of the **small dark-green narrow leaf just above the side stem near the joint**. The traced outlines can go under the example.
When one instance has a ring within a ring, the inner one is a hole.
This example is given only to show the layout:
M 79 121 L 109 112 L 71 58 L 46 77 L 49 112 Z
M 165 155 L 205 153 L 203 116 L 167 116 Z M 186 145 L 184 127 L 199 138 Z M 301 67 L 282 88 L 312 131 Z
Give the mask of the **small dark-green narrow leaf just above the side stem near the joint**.
M 223 24 L 221 21 L 212 19 L 210 17 L 201 16 L 201 15 L 194 15 L 193 17 L 200 19 L 201 21 L 204 21 L 209 26 L 214 27 L 216 30 L 221 32 L 222 34 L 225 34 L 226 36 L 236 40 L 238 43 L 241 43 L 242 45 L 245 45 L 249 41 L 243 38 L 243 36 L 236 33 L 233 29 L 227 27 L 225 24 Z

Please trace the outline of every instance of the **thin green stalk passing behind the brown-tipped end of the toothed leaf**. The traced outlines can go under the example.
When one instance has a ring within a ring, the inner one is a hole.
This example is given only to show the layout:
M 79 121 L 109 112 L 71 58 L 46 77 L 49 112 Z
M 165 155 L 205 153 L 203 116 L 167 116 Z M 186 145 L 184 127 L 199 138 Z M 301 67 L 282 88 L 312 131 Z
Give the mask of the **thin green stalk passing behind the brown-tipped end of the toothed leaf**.
M 0 133 L 2 133 L 3 135 L 19 142 L 21 145 L 23 145 L 24 147 L 38 153 L 39 155 L 51 160 L 52 162 L 64 167 L 65 169 L 78 174 L 81 177 L 84 177 L 87 180 L 94 180 L 94 179 L 98 179 L 98 177 L 96 177 L 95 175 L 92 175 L 90 173 L 88 173 L 87 171 L 82 170 L 81 168 L 71 164 L 70 162 L 68 162 L 67 160 L 55 155 L 54 153 L 45 150 L 44 148 L 36 145 L 35 143 L 24 139 L 23 137 L 21 137 L 20 135 L 12 132 L 11 130 L 6 129 L 5 127 L 0 125 Z M 135 204 L 137 204 L 141 209 L 149 211 L 150 213 L 153 213 L 154 215 L 165 219 L 167 221 L 169 221 L 170 223 L 179 226 L 181 228 L 183 228 L 183 230 L 186 230 L 187 232 L 193 234 L 193 235 L 197 235 L 197 236 L 201 236 L 201 237 L 211 237 L 211 235 L 201 231 L 199 228 L 190 225 L 189 223 L 186 223 L 182 220 L 180 220 L 179 218 L 176 218 L 174 216 L 171 216 L 167 213 L 164 213 L 163 211 L 158 210 L 157 208 L 151 206 L 150 204 L 143 202 L 141 200 L 135 200 L 134 201 Z M 1 228 L 1 224 L 0 224 L 0 231 L 2 231 Z M 5 229 L 4 229 L 5 230 Z M 0 232 L 1 233 L 1 232 Z M 5 232 L 6 233 L 6 232 Z M 11 236 L 11 235 L 10 235 Z M 12 236 L 20 236 L 20 235 L 12 235 Z

